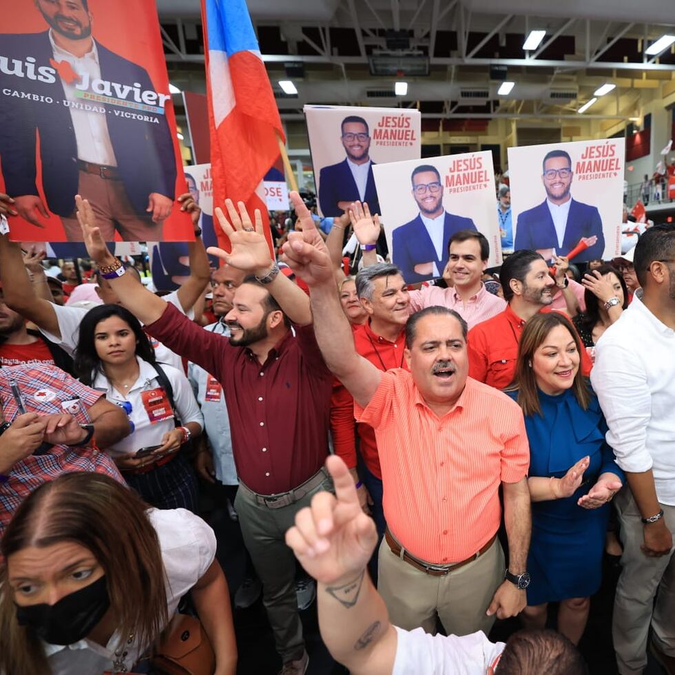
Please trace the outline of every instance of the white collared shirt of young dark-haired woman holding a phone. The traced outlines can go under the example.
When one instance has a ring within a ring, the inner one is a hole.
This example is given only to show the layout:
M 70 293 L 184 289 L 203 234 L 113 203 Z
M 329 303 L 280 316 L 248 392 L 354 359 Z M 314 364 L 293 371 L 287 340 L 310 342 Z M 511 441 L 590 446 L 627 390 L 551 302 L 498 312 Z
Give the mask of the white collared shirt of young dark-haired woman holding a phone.
M 113 457 L 124 457 L 125 455 L 134 455 L 134 453 L 149 446 L 156 446 L 162 444 L 162 438 L 165 433 L 176 428 L 176 420 L 174 415 L 167 415 L 167 419 L 154 424 L 150 421 L 149 414 L 143 405 L 143 392 L 151 389 L 158 389 L 162 385 L 157 377 L 157 371 L 152 364 L 136 357 L 138 362 L 138 379 L 126 393 L 121 393 L 112 386 L 110 380 L 105 377 L 100 371 L 96 373 L 92 387 L 97 391 L 103 391 L 105 397 L 116 406 L 124 408 L 129 416 L 129 422 L 132 423 L 133 431 L 128 436 L 125 436 L 116 444 L 105 448 L 107 453 Z M 174 403 L 176 410 L 180 417 L 181 424 L 185 425 L 188 422 L 196 422 L 202 428 L 204 427 L 204 418 L 199 410 L 199 406 L 192 393 L 190 383 L 187 377 L 183 375 L 183 371 L 173 366 L 162 364 L 162 370 L 171 384 L 174 394 Z M 168 402 L 168 399 L 167 399 Z M 131 408 L 129 410 L 129 408 Z

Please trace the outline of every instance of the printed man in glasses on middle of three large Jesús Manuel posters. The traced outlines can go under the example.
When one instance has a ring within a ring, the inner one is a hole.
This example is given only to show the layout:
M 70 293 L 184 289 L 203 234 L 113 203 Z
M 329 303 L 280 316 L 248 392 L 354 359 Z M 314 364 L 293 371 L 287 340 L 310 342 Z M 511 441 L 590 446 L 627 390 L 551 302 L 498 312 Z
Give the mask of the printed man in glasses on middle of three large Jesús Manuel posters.
M 475 230 L 472 218 L 449 214 L 443 206 L 438 169 L 423 164 L 411 174 L 411 194 L 419 214 L 392 232 L 393 262 L 408 284 L 439 278 L 448 264 L 448 241 L 461 229 Z

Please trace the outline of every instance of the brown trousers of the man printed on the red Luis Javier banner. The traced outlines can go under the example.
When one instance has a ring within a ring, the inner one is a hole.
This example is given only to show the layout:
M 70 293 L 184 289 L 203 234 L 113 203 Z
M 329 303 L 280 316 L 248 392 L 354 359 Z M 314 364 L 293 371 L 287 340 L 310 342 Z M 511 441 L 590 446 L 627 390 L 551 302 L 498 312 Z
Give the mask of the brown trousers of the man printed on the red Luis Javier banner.
M 121 180 L 80 171 L 79 193 L 92 205 L 105 241 L 114 241 L 116 231 L 124 241 L 162 240 L 162 223 L 136 213 Z M 82 241 L 82 228 L 74 213 L 70 218 L 61 218 L 61 222 L 68 241 Z

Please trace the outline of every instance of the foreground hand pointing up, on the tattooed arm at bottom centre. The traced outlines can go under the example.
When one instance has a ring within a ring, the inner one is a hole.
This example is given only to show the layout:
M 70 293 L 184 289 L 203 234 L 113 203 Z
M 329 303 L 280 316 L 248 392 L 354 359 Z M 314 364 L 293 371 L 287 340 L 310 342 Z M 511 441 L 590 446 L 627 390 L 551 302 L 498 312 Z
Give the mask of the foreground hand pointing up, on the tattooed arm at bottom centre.
M 311 507 L 295 515 L 286 543 L 308 574 L 322 583 L 335 584 L 364 572 L 375 550 L 377 532 L 373 519 L 361 509 L 344 461 L 331 455 L 326 468 L 333 477 L 335 497 L 330 492 L 314 495 Z

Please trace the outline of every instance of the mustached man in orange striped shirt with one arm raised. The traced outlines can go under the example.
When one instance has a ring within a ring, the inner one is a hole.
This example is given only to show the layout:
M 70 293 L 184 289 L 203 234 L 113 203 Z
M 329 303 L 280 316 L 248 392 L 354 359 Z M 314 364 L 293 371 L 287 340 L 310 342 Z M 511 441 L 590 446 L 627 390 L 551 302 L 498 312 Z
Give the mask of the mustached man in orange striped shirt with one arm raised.
M 466 323 L 445 307 L 408 319 L 410 372 L 383 373 L 358 355 L 326 246 L 309 211 L 298 204 L 296 212 L 304 227 L 289 236 L 284 259 L 309 285 L 326 364 L 351 391 L 357 420 L 375 429 L 388 523 L 379 588 L 391 619 L 408 630 L 434 632 L 441 619 L 448 634 L 489 632 L 495 615 L 526 605 L 529 447 L 520 408 L 467 377 Z

